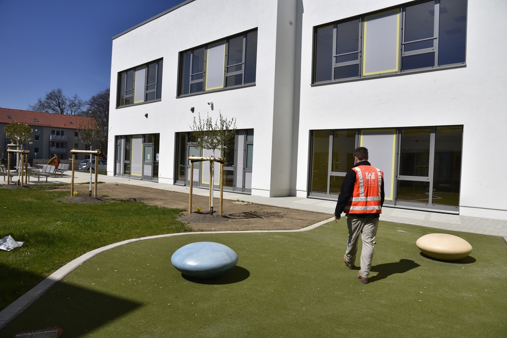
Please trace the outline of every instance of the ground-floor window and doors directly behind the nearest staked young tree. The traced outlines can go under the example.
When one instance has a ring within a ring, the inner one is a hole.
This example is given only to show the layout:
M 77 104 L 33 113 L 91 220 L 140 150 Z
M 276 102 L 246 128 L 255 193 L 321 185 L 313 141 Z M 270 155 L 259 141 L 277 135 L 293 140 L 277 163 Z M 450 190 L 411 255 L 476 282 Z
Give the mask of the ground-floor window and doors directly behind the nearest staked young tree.
M 211 150 L 200 149 L 190 140 L 190 133 L 176 133 L 176 151 L 175 151 L 175 184 L 190 185 L 190 161 L 189 156 L 211 156 Z M 251 193 L 252 180 L 252 158 L 253 158 L 253 129 L 237 130 L 234 136 L 234 146 L 224 148 L 215 157 L 223 156 L 224 163 L 223 182 L 224 190 Z M 215 162 L 213 185 L 219 189 L 220 167 Z M 208 188 L 209 162 L 194 162 L 193 186 Z

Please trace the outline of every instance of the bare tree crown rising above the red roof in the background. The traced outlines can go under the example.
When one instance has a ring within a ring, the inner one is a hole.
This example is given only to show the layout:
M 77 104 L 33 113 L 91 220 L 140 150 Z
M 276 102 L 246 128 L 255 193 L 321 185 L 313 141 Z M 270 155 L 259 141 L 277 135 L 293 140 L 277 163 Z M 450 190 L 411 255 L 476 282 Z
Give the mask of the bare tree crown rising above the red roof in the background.
M 74 94 L 73 97 L 68 97 L 63 95 L 63 91 L 60 88 L 57 88 L 46 93 L 44 98 L 37 99 L 37 103 L 29 105 L 28 108 L 45 113 L 79 115 L 85 106 L 86 101 L 83 101 L 77 94 Z

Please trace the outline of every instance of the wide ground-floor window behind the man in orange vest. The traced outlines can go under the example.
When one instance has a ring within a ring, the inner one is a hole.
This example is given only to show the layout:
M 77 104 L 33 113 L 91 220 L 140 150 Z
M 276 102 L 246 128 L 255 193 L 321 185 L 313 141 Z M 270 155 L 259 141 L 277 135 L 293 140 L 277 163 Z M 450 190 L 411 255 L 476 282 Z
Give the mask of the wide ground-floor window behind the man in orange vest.
M 311 132 L 309 196 L 335 199 L 355 147 L 384 172 L 385 203 L 458 211 L 462 125 Z

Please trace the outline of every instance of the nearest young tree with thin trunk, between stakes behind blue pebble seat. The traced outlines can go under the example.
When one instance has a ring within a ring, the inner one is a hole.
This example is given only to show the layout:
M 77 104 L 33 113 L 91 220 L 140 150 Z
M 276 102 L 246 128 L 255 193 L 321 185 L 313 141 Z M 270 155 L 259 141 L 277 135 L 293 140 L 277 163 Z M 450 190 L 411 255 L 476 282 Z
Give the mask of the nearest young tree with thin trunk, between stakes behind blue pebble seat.
M 197 120 L 194 117 L 194 124 L 190 126 L 190 129 L 192 130 L 192 133 L 190 133 L 190 139 L 195 142 L 201 150 L 208 149 L 213 151 L 213 155 L 211 157 L 214 157 L 215 151 L 219 150 L 219 157 L 222 157 L 225 149 L 234 144 L 236 119 L 233 117 L 229 120 L 220 113 L 219 118 L 217 118 L 213 123 L 209 114 L 206 119 L 202 119 L 201 114 L 199 114 Z M 209 173 L 210 214 L 213 214 L 213 172 L 214 167 L 213 163 L 211 163 Z

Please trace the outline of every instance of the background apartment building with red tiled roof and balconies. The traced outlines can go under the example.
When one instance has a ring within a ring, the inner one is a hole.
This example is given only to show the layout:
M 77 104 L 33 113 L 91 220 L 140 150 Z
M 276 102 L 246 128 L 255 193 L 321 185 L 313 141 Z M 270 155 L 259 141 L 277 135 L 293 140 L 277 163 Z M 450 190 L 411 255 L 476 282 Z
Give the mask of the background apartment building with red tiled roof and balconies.
M 71 159 L 70 150 L 85 150 L 86 145 L 79 139 L 80 125 L 89 125 L 91 117 L 43 113 L 39 111 L 0 108 L 0 147 L 2 160 L 7 163 L 7 145 L 11 142 L 4 128 L 8 123 L 27 124 L 32 130 L 33 140 L 25 145 L 29 150 L 30 162 L 37 159 L 50 159 L 58 155 L 60 160 Z M 84 154 L 77 154 L 84 159 Z M 14 162 L 13 162 L 14 165 Z

